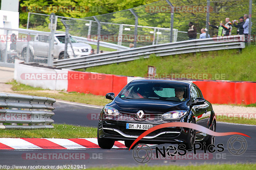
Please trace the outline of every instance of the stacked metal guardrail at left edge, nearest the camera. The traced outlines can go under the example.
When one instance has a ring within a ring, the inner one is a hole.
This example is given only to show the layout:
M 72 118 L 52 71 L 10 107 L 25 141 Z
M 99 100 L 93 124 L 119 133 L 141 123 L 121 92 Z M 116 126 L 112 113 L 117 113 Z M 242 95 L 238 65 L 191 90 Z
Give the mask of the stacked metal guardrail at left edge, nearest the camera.
M 0 129 L 53 128 L 55 101 L 48 97 L 0 93 Z

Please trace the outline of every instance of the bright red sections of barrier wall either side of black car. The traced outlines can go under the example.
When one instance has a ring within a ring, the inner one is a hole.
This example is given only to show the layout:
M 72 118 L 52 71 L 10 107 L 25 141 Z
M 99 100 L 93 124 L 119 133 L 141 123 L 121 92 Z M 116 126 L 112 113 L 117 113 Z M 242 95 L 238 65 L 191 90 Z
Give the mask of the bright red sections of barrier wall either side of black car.
M 203 92 L 204 98 L 218 104 L 251 104 L 256 102 L 256 83 L 229 81 L 193 81 Z M 115 96 L 127 84 L 126 76 L 80 71 L 68 71 L 68 92 L 92 93 Z

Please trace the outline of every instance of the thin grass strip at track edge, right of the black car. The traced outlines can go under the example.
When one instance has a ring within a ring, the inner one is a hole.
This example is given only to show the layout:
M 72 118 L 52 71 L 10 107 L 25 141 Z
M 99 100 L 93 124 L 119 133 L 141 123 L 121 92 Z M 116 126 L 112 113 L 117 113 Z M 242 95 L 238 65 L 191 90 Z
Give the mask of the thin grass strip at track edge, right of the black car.
M 245 117 L 228 117 L 228 116 L 217 115 L 216 119 L 219 122 L 256 125 L 256 119 L 255 118 L 249 118 L 249 117 L 248 118 L 245 118 Z

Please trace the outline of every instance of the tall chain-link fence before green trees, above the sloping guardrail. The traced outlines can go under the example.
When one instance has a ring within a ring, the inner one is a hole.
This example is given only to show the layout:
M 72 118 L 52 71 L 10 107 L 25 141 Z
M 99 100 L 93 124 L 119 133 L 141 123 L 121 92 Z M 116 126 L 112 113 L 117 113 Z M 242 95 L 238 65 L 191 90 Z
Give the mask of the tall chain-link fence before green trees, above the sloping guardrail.
M 251 37 L 254 39 L 256 29 L 253 26 L 255 18 L 252 16 L 256 14 L 255 5 L 256 3 L 252 0 L 239 2 L 235 0 L 161 0 L 132 9 L 86 18 L 60 18 L 58 16 L 56 29 L 65 31 L 65 27 L 60 22 L 62 19 L 71 35 L 126 47 L 129 47 L 131 43 L 136 47 L 141 47 L 188 40 L 191 38 L 188 36 L 189 22 L 194 25 L 196 38 L 199 38 L 202 28 L 207 28 L 206 36 L 209 33 L 210 37 L 214 37 L 222 31 L 218 29 L 220 22 L 222 21 L 225 25 L 228 22 L 226 18 L 229 18 L 232 26 L 231 34 L 234 35 L 239 31 L 239 28 L 234 26 L 238 25 L 234 20 L 239 20 L 244 14 L 249 14 L 252 21 Z M 28 28 L 40 28 L 41 26 L 48 29 L 47 15 L 40 14 L 39 16 L 35 13 L 29 15 Z M 171 28 L 173 28 L 172 32 Z M 223 29 L 224 32 L 226 32 L 225 29 Z

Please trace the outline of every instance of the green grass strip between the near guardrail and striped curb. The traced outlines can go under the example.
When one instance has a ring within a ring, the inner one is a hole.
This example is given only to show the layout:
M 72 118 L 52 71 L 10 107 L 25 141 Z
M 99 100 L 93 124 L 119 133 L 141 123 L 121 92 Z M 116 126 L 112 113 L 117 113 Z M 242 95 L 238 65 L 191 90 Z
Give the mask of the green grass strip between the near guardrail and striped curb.
M 53 124 L 53 129 L 0 129 L 0 137 L 25 138 L 89 138 L 97 137 L 97 128 Z

